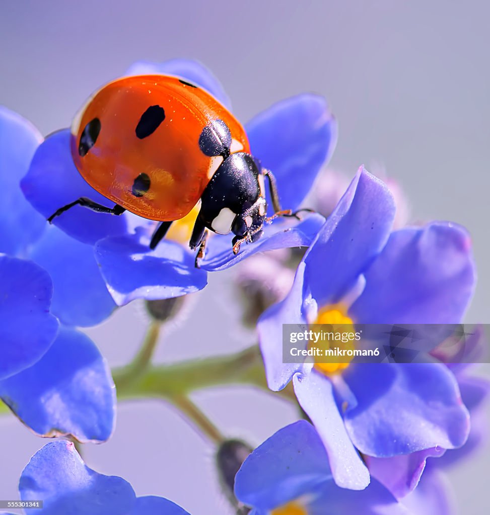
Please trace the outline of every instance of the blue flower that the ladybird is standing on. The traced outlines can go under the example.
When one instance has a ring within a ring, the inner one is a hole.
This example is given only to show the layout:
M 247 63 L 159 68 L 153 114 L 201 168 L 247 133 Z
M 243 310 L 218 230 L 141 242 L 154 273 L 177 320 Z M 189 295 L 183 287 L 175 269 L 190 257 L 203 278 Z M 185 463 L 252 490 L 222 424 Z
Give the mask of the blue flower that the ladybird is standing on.
M 219 82 L 199 63 L 138 62 L 127 71 L 127 75 L 143 73 L 182 76 L 201 84 L 229 106 Z M 247 125 L 252 152 L 263 166 L 274 171 L 285 208 L 299 207 L 321 165 L 331 156 L 336 130 L 326 102 L 316 95 L 298 95 L 279 102 Z M 44 217 L 79 197 L 110 204 L 81 178 L 71 159 L 69 140 L 68 129 L 48 136 L 22 180 L 26 198 Z M 201 269 L 196 269 L 193 254 L 188 249 L 179 250 L 172 242 L 176 237 L 179 243 L 187 244 L 196 212 L 189 216 L 194 218 L 174 223 L 166 240 L 154 251 L 149 249 L 154 222 L 130 213 L 116 217 L 76 206 L 53 222 L 67 235 L 94 246 L 102 278 L 113 300 L 122 305 L 135 298 L 155 300 L 198 291 L 206 285 L 206 270 L 227 268 L 255 252 L 307 246 L 324 221 L 320 215 L 313 215 L 299 224 L 274 222 L 260 242 L 243 245 L 237 256 L 232 252 L 231 236 L 215 236 L 210 239 Z M 187 230 L 182 231 L 183 227 Z M 179 232 L 182 234 L 176 236 Z

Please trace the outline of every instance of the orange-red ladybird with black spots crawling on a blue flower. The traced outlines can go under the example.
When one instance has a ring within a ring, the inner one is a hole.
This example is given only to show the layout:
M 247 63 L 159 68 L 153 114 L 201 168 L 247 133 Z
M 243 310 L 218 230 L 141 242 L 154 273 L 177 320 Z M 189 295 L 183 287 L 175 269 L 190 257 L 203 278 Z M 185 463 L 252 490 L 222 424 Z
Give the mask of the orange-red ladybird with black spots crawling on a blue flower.
M 74 205 L 121 215 L 128 210 L 161 223 L 154 249 L 173 221 L 200 201 L 190 238 L 202 258 L 208 231 L 233 232 L 233 252 L 263 234 L 282 211 L 275 179 L 250 154 L 237 119 L 204 89 L 178 77 L 139 75 L 104 85 L 86 102 L 71 127 L 71 154 L 80 175 L 113 208 L 82 197 Z M 274 207 L 267 218 L 265 180 Z

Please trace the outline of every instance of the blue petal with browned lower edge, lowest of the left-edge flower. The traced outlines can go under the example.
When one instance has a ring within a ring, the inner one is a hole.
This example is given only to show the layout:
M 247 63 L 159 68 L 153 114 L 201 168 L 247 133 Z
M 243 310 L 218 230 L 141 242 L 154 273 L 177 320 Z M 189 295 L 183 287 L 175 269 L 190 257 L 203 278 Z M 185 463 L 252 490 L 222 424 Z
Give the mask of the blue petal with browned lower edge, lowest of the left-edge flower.
M 38 363 L 0 382 L 0 397 L 42 436 L 107 440 L 115 423 L 116 390 L 92 340 L 61 329 Z

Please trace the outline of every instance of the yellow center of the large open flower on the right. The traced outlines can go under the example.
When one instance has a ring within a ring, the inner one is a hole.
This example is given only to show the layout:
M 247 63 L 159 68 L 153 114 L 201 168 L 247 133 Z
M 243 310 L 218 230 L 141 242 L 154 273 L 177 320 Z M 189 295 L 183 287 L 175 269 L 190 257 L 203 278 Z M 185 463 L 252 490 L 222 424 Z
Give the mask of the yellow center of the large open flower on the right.
M 309 345 L 310 348 L 321 348 L 323 355 L 329 358 L 328 363 L 322 363 L 322 357 L 316 356 L 315 368 L 325 375 L 340 373 L 349 366 L 352 356 L 336 356 L 329 354 L 328 351 L 330 349 L 332 352 L 335 348 L 342 350 L 355 349 L 354 322 L 344 314 L 341 308 L 328 306 L 319 311 L 315 324 L 322 325 L 321 328 L 315 328 L 315 331 L 321 331 L 322 334 L 329 336 L 328 339 L 317 343 L 311 342 Z

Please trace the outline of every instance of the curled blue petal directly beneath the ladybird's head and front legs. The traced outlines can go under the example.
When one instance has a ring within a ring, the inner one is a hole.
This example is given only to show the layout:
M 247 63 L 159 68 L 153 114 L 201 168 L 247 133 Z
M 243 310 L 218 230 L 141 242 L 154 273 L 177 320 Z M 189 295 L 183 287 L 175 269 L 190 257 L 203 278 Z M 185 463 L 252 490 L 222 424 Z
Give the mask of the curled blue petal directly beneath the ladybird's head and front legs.
M 233 254 L 232 236 L 213 235 L 209 238 L 201 268 L 210 272 L 225 270 L 257 252 L 291 247 L 308 247 L 324 221 L 323 216 L 315 213 L 289 228 L 285 228 L 284 224 L 279 221 L 277 223 L 272 222 L 270 226 L 264 228 L 264 236 L 258 242 L 250 245 L 242 244 L 237 255 Z

